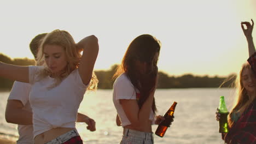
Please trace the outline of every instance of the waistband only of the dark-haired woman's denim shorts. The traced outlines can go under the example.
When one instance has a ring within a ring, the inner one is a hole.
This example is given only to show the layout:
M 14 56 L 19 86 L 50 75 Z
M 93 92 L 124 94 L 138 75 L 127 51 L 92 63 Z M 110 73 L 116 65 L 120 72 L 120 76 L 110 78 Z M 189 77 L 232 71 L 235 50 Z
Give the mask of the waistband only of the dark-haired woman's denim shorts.
M 141 138 L 141 139 L 144 139 L 144 140 L 153 140 L 153 133 L 152 132 L 144 132 L 144 131 L 137 131 L 137 130 L 124 128 L 123 135 L 124 136 L 138 137 L 138 138 Z

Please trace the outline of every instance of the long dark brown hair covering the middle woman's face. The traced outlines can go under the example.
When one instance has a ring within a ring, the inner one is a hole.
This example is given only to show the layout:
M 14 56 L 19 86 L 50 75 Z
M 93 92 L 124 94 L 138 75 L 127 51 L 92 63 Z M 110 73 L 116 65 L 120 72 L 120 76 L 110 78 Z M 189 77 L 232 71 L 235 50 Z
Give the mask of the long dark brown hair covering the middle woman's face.
M 141 109 L 144 102 L 148 99 L 150 92 L 155 88 L 158 67 L 156 66 L 157 61 L 154 61 L 154 57 L 160 51 L 160 47 L 160 41 L 152 35 L 139 35 L 128 46 L 123 61 L 113 76 L 115 79 L 123 73 L 127 75 L 135 91 L 138 89 L 140 93 L 138 100 L 139 109 Z M 136 61 L 146 63 L 146 73 L 139 73 Z M 153 99 L 152 110 L 155 115 L 155 98 Z

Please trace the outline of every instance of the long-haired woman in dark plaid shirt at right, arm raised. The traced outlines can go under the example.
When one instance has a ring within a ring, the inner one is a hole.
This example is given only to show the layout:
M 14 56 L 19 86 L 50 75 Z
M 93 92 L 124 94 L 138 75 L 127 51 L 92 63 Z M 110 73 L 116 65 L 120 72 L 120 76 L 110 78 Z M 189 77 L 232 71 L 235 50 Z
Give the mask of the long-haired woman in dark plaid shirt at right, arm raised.
M 243 25 L 246 25 L 247 29 Z M 237 75 L 237 99 L 228 115 L 229 132 L 222 134 L 225 143 L 256 143 L 256 53 L 252 39 L 253 25 L 253 20 L 252 25 L 249 22 L 241 22 L 251 57 Z M 219 121 L 220 115 L 218 112 L 216 114 Z

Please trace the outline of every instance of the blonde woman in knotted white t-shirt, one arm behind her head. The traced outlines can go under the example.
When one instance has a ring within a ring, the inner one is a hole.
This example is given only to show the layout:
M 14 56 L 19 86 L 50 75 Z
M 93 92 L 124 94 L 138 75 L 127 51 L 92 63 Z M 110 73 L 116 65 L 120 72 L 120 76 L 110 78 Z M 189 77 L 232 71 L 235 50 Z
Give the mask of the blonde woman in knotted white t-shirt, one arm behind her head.
M 75 121 L 86 89 L 97 87 L 93 74 L 97 55 L 94 35 L 75 44 L 68 32 L 55 30 L 40 43 L 37 62 L 43 66 L 0 63 L 0 76 L 32 85 L 34 143 L 83 143 Z

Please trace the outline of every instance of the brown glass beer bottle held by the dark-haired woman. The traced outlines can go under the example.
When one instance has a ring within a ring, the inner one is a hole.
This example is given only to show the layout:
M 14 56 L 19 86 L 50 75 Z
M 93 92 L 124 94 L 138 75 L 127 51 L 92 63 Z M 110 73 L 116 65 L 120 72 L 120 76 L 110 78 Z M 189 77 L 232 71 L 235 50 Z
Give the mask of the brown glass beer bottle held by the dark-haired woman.
M 177 102 L 174 101 L 170 109 L 165 113 L 164 115 L 165 120 L 158 125 L 158 128 L 155 131 L 156 135 L 160 137 L 163 137 L 165 135 L 167 128 L 170 127 L 172 116 L 173 116 L 176 105 L 177 105 Z

